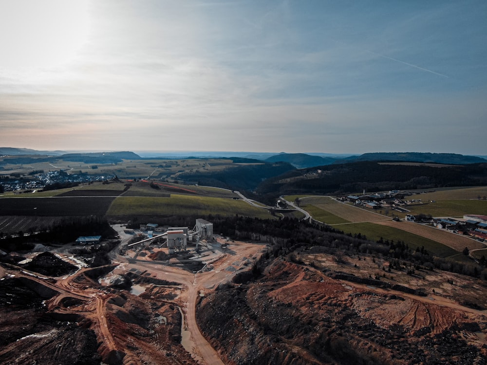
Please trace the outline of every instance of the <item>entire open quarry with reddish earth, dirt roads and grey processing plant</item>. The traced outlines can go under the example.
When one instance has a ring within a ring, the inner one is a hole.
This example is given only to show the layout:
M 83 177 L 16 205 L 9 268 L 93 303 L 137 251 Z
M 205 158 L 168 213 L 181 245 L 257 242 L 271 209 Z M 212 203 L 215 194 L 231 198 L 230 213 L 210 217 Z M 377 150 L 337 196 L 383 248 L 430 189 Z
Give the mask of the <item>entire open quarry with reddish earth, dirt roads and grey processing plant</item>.
M 2 364 L 486 364 L 480 279 L 204 219 L 112 227 L 108 265 L 67 248 L 2 258 Z

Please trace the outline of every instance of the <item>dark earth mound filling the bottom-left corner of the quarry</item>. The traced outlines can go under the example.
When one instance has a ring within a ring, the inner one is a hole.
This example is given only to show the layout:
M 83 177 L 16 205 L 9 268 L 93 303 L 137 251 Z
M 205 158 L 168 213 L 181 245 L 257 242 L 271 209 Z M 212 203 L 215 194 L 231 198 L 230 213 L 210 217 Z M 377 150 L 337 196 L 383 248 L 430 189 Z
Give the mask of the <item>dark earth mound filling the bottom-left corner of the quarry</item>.
M 46 296 L 21 279 L 0 281 L 0 363 L 100 364 L 94 331 L 53 320 L 43 304 Z

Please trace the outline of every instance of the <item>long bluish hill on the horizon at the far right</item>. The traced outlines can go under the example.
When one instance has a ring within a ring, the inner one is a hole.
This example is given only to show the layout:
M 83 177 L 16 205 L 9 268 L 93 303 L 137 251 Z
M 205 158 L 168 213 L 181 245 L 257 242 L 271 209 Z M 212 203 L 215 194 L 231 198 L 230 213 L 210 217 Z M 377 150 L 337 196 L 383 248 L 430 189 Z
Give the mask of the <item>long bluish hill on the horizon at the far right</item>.
M 337 160 L 336 164 L 359 161 L 403 161 L 424 162 L 435 164 L 479 164 L 487 162 L 486 159 L 476 156 L 465 156 L 456 153 L 429 153 L 429 152 L 374 152 L 364 153 L 360 156 L 351 156 Z

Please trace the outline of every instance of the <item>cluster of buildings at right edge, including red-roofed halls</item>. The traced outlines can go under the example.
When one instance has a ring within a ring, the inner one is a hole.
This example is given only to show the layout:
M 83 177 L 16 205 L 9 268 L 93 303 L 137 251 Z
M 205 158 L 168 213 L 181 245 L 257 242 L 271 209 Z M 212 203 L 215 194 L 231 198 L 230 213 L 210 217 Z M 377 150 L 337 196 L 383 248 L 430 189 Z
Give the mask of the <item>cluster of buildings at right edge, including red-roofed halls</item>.
M 475 237 L 479 240 L 487 239 L 487 216 L 465 215 L 463 219 L 433 219 L 433 225 L 437 228 Z

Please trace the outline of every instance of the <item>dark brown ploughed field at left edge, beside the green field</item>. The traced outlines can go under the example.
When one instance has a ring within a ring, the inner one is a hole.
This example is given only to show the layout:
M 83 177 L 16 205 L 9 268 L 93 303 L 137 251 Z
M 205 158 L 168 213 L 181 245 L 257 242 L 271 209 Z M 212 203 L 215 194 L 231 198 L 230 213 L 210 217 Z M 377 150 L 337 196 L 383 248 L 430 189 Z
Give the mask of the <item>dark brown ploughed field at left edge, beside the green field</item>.
M 112 197 L 1 198 L 0 216 L 104 216 Z

